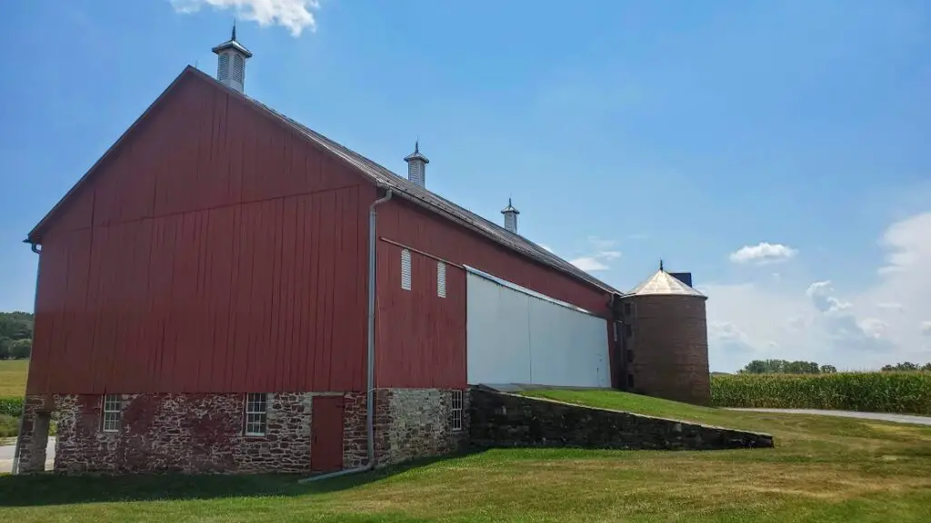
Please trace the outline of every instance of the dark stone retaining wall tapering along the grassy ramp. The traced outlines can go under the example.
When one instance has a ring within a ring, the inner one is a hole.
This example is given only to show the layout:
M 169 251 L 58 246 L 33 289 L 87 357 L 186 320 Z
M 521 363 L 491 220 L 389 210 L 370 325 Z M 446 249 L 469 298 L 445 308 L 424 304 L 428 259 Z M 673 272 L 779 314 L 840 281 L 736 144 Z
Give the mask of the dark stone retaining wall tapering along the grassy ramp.
M 586 449 L 750 449 L 773 436 L 471 389 L 471 445 Z

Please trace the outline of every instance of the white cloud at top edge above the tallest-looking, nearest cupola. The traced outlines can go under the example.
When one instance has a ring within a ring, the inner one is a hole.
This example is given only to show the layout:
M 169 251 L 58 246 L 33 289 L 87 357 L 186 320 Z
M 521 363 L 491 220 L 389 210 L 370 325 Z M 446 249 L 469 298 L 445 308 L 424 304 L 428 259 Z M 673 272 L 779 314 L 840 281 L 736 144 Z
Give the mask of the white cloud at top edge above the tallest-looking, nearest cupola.
M 194 13 L 201 7 L 233 9 L 241 20 L 258 22 L 261 27 L 280 25 L 288 28 L 292 36 L 300 36 L 304 29 L 317 30 L 312 10 L 320 8 L 319 0 L 169 0 L 179 13 Z

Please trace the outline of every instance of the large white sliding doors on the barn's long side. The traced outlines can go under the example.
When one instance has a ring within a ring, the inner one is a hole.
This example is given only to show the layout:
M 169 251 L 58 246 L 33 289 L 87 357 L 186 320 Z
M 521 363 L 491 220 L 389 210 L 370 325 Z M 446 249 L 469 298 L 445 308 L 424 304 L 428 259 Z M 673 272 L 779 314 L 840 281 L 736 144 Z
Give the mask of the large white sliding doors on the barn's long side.
M 469 383 L 611 386 L 603 318 L 467 269 Z

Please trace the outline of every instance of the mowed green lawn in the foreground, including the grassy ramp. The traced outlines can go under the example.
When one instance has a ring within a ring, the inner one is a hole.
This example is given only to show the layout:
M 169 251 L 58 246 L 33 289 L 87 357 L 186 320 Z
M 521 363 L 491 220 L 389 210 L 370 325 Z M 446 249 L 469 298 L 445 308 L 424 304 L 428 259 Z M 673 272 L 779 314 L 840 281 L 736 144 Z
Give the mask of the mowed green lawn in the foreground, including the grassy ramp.
M 931 428 L 705 409 L 602 391 L 560 401 L 768 432 L 776 449 L 496 449 L 299 485 L 295 476 L 0 477 L 5 520 L 931 521 Z

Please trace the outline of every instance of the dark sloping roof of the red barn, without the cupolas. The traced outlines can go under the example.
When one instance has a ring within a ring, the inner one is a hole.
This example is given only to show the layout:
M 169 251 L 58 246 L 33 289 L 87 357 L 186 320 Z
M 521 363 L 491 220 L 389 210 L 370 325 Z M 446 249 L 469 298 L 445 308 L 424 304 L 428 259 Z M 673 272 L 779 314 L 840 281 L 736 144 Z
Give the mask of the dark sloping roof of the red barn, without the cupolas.
M 533 243 L 531 240 L 521 235 L 518 235 L 516 233 L 511 233 L 510 231 L 507 231 L 504 227 L 492 221 L 486 220 L 482 218 L 481 216 L 479 216 L 478 214 L 467 210 L 466 208 L 459 207 L 458 205 L 452 203 L 450 200 L 447 200 L 446 198 L 443 198 L 439 196 L 438 194 L 434 194 L 434 193 L 431 193 L 430 191 L 427 191 L 424 187 L 420 187 L 419 185 L 413 183 L 412 181 L 409 181 L 406 178 L 399 176 L 398 174 L 392 172 L 390 169 L 379 165 L 378 163 L 370 160 L 369 158 L 366 158 L 362 154 L 358 154 L 355 151 L 345 147 L 344 145 L 340 145 L 339 143 L 330 140 L 329 138 L 318 133 L 317 131 L 304 126 L 303 124 L 291 119 L 290 117 L 284 114 L 278 113 L 277 111 L 275 111 L 271 107 L 268 107 L 262 102 L 256 101 L 255 99 L 252 99 L 249 96 L 246 96 L 245 94 L 240 93 L 234 89 L 223 86 L 223 84 L 218 82 L 212 76 L 209 76 L 209 74 L 205 74 L 197 70 L 194 67 L 191 67 L 191 66 L 185 67 L 182 74 L 180 74 L 178 78 L 176 78 L 175 81 L 172 82 L 171 86 L 169 86 L 165 90 L 165 92 L 163 92 L 162 95 L 159 96 L 158 100 L 165 98 L 165 95 L 169 92 L 169 90 L 171 90 L 172 87 L 177 85 L 178 81 L 186 74 L 191 74 L 191 75 L 196 76 L 197 78 L 208 81 L 212 86 L 224 89 L 231 96 L 240 97 L 243 100 L 248 101 L 254 106 L 263 110 L 267 114 L 271 114 L 272 116 L 277 118 L 279 121 L 281 121 L 285 125 L 293 128 L 295 131 L 303 135 L 307 140 L 316 143 L 318 146 L 326 149 L 331 154 L 334 154 L 337 157 L 344 160 L 344 162 L 348 163 L 353 168 L 356 168 L 356 170 L 358 170 L 359 173 L 361 173 L 364 177 L 369 179 L 372 183 L 374 183 L 378 187 L 381 187 L 384 189 L 391 189 L 394 194 L 397 194 L 398 196 L 403 197 L 420 207 L 423 207 L 429 211 L 432 211 L 438 214 L 439 216 L 446 218 L 447 220 L 458 222 L 466 226 L 467 228 L 479 233 L 480 235 L 483 235 L 491 239 L 495 243 L 505 248 L 508 248 L 510 250 L 513 250 L 515 252 L 518 252 L 519 254 L 527 258 L 530 258 L 535 262 L 543 263 L 549 267 L 559 270 L 562 273 L 571 275 L 576 279 L 585 281 L 589 285 L 592 285 L 596 288 L 600 288 L 604 290 L 605 292 L 617 293 L 617 294 L 621 293 L 617 289 L 612 288 L 608 284 L 600 281 L 598 278 L 592 275 L 589 275 L 585 271 L 579 269 L 572 263 L 566 262 L 559 256 L 546 250 L 546 248 L 542 248 L 538 246 L 537 244 Z M 158 102 L 158 100 L 156 100 L 153 103 L 153 106 Z M 146 113 L 151 111 L 151 109 L 152 109 L 152 106 L 149 107 Z M 140 117 L 140 120 L 142 120 L 144 116 L 145 116 L 145 113 L 142 114 L 142 116 Z M 139 120 L 137 120 L 137 123 L 138 122 Z M 133 127 L 135 127 L 135 125 L 136 124 L 133 124 Z M 130 127 L 130 129 L 131 128 L 132 127 Z M 119 141 L 122 141 L 123 138 L 126 136 L 126 134 L 128 134 L 128 131 L 127 133 L 124 133 L 123 137 L 121 137 Z M 103 157 L 106 157 L 107 154 L 110 154 L 115 149 L 119 141 L 117 141 L 114 144 L 114 146 L 111 147 L 110 150 L 108 150 L 106 154 L 104 154 Z M 71 191 L 69 191 L 68 194 L 65 194 L 65 196 L 61 199 L 61 202 L 59 202 L 59 204 L 56 205 L 55 208 L 52 208 L 48 212 L 47 216 L 42 221 L 40 221 L 38 225 L 35 226 L 33 231 L 29 234 L 29 237 L 26 239 L 27 242 L 32 242 L 35 240 L 40 230 L 44 228 L 47 221 L 51 219 L 53 213 L 55 213 L 58 208 L 62 207 L 62 204 L 65 202 L 65 200 L 69 198 L 70 195 L 75 193 L 78 186 L 87 182 L 92 171 L 95 170 L 95 168 L 97 168 L 101 164 L 102 160 L 103 158 L 101 158 L 101 160 L 99 160 L 94 165 L 94 167 L 92 167 L 88 171 L 88 173 L 85 174 L 83 178 L 81 178 L 81 180 L 77 181 L 77 183 L 74 185 Z

